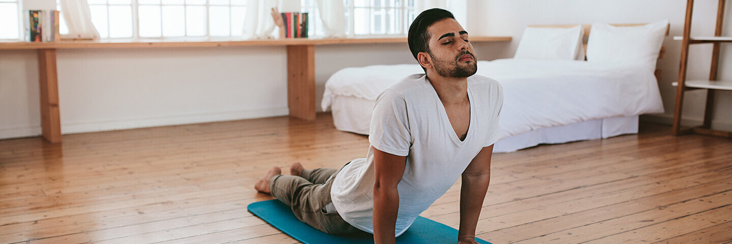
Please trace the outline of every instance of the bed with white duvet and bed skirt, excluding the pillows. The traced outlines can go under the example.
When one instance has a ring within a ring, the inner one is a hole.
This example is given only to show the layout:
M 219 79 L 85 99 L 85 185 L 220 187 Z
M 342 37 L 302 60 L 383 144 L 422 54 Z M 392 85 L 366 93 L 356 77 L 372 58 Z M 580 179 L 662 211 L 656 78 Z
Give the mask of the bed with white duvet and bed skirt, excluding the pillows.
M 477 75 L 504 88 L 493 152 L 638 133 L 640 114 L 664 111 L 654 70 L 640 65 L 527 58 L 477 65 Z M 331 108 L 337 130 L 367 135 L 378 94 L 414 73 L 424 73 L 419 64 L 339 70 L 326 81 L 321 108 Z

